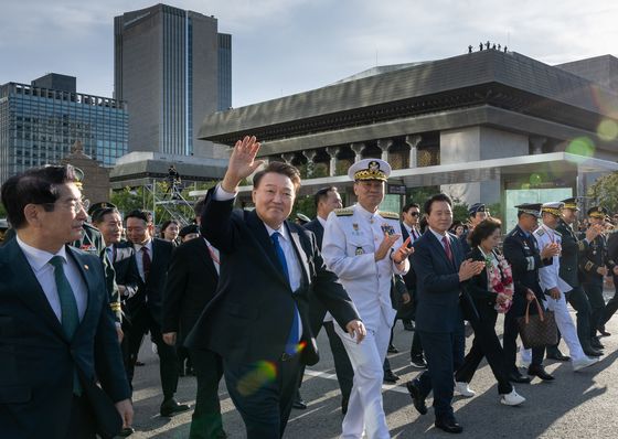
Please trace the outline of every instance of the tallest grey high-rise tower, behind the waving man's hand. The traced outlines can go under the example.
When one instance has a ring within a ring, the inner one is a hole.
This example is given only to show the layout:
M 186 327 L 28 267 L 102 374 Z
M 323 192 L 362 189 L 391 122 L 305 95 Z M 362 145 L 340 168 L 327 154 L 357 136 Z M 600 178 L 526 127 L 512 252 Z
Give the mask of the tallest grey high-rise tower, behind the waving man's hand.
M 231 106 L 232 39 L 217 33 L 217 20 L 157 4 L 116 17 L 114 39 L 114 96 L 129 106 L 129 151 L 220 157 L 196 140 L 204 117 Z

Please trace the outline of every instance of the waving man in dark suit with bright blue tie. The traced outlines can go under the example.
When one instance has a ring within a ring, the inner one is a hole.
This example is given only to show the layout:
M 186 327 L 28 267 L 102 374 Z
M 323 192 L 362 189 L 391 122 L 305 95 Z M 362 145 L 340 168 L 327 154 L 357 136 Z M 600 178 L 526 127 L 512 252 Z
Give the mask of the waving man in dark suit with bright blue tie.
M 318 295 L 359 342 L 365 329 L 313 234 L 286 221 L 300 185 L 296 168 L 269 163 L 253 179 L 255 211 L 233 211 L 238 183 L 262 164 L 258 149 L 255 137 L 236 142 L 223 181 L 206 195 L 202 235 L 222 254 L 221 276 L 185 344 L 223 357 L 247 437 L 269 439 L 284 435 L 300 364 L 318 361 L 309 297 Z

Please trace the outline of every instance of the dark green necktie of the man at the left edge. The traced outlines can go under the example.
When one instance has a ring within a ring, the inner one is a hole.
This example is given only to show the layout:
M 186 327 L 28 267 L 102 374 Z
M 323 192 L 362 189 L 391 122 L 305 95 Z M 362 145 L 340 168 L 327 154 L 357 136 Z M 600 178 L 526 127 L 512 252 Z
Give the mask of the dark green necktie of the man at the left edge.
M 56 290 L 60 299 L 61 323 L 64 334 L 68 341 L 73 340 L 73 335 L 79 325 L 79 311 L 77 310 L 77 300 L 73 293 L 73 288 L 68 283 L 68 279 L 64 275 L 64 259 L 62 256 L 54 256 L 50 259 L 50 264 L 54 267 L 54 278 L 56 281 Z M 77 377 L 77 371 L 73 372 L 73 393 L 82 394 L 82 386 Z

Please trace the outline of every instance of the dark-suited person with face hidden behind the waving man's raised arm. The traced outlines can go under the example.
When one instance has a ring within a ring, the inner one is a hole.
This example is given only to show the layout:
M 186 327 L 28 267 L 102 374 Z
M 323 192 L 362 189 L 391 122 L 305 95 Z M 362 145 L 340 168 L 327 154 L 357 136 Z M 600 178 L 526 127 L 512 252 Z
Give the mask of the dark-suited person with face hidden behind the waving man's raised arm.
M 182 345 L 219 282 L 220 254 L 203 237 L 190 239 L 174 250 L 163 296 L 162 332 L 166 343 Z M 191 350 L 190 360 L 198 381 L 195 408 L 189 437 L 224 438 L 219 382 L 223 376 L 221 356 L 210 350 Z

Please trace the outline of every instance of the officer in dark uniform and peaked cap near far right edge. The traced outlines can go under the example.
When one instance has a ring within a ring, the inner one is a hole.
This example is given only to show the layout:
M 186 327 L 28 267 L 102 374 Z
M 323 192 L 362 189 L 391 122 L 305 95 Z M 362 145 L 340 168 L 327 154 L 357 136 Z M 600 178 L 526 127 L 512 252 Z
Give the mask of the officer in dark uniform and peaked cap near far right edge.
M 606 216 L 607 210 L 605 207 L 594 206 L 588 210 L 588 222 L 592 227 L 603 227 Z M 606 276 L 610 274 L 618 275 L 616 263 L 608 256 L 607 240 L 604 234 L 599 234 L 590 243 L 584 257 L 579 260 L 579 269 L 583 274 L 582 283 L 584 291 L 586 291 L 592 307 L 590 344 L 593 347 L 600 350 L 604 345 L 598 340 L 597 330 L 600 325 L 605 309 L 603 282 Z

